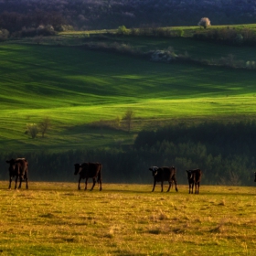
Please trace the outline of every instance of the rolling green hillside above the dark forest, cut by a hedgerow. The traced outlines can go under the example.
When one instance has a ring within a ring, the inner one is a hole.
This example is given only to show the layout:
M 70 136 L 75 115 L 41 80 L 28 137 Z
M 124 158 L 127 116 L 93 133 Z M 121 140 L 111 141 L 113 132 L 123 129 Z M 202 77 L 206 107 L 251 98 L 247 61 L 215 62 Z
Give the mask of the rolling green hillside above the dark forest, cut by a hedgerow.
M 144 49 L 172 46 L 197 58 L 235 52 L 238 59 L 256 59 L 255 48 L 202 46 L 189 38 L 120 40 Z M 135 130 L 143 127 L 144 120 L 254 115 L 254 70 L 166 65 L 83 48 L 40 45 L 1 44 L 0 57 L 2 150 L 59 150 L 131 140 L 133 134 L 91 131 L 85 125 L 122 117 L 127 109 L 135 112 Z M 27 123 L 38 123 L 45 116 L 52 122 L 48 139 L 27 139 Z

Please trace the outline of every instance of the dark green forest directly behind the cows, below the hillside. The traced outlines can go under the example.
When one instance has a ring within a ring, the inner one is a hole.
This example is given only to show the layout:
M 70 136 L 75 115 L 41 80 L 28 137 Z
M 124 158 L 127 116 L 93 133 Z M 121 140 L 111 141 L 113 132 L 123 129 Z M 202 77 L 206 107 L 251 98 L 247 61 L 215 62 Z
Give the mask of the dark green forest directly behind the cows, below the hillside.
M 200 168 L 205 185 L 253 185 L 256 169 L 256 122 L 180 123 L 142 131 L 131 148 L 70 150 L 63 153 L 27 153 L 29 178 L 39 181 L 74 181 L 74 164 L 101 162 L 103 182 L 150 183 L 151 165 L 175 165 L 177 181 L 186 184 L 186 170 Z M 1 154 L 0 162 L 21 153 Z M 7 179 L 7 164 L 0 179 Z M 7 186 L 7 184 L 6 184 Z

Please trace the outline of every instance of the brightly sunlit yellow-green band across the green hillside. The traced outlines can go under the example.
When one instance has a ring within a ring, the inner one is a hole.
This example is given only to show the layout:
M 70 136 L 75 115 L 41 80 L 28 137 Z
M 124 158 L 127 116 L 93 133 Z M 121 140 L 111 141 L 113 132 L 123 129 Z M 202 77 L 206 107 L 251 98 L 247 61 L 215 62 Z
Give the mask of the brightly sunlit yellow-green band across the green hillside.
M 188 117 L 193 114 L 212 115 L 229 113 L 253 113 L 256 100 L 253 96 L 240 97 L 215 97 L 215 98 L 191 98 L 182 100 L 171 99 L 149 99 L 135 100 L 124 98 L 123 101 L 94 104 L 88 106 L 61 107 L 49 109 L 23 109 L 3 110 L 1 118 L 8 117 L 7 123 L 36 122 L 44 116 L 48 116 L 54 123 L 90 123 L 101 119 L 108 120 L 117 115 L 123 115 L 127 109 L 135 112 L 136 118 L 163 117 L 177 118 Z M 5 123 L 5 125 L 7 125 Z

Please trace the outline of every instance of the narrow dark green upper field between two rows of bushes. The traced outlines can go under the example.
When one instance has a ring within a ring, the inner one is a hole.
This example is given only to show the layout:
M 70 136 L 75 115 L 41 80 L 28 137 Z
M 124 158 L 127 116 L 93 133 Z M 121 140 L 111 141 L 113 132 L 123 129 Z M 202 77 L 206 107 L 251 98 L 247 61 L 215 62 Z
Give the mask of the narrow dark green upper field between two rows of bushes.
M 198 29 L 199 28 L 197 28 L 197 30 Z M 217 27 L 212 27 L 210 29 L 217 29 Z M 201 30 L 202 29 L 199 31 L 203 33 L 204 30 Z M 91 34 L 87 32 L 69 32 L 68 34 L 60 35 L 70 44 L 75 44 L 76 41 L 79 41 L 80 44 L 89 42 L 95 43 L 99 40 L 99 42 L 104 42 L 107 45 L 113 43 L 125 44 L 143 52 L 155 49 L 172 48 L 176 54 L 187 54 L 192 59 L 221 59 L 227 58 L 229 55 L 232 55 L 235 60 L 255 61 L 256 59 L 256 48 L 254 47 L 229 46 L 220 43 L 216 44 L 209 41 L 200 41 L 192 37 L 131 37 L 118 36 L 115 34 L 105 35 L 104 33 L 99 36 L 98 34 L 94 34 L 94 31 L 92 31 Z M 90 35 L 90 37 L 88 37 L 88 35 Z

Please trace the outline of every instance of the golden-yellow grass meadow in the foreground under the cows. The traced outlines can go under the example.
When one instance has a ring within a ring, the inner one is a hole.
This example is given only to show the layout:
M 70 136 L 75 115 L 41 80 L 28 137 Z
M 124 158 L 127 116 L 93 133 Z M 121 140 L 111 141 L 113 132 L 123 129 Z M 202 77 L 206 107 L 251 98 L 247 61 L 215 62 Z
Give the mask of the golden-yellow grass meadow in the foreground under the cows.
M 255 255 L 255 187 L 7 187 L 0 182 L 1 255 Z

